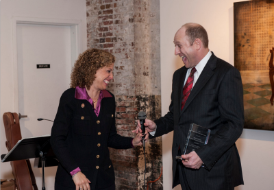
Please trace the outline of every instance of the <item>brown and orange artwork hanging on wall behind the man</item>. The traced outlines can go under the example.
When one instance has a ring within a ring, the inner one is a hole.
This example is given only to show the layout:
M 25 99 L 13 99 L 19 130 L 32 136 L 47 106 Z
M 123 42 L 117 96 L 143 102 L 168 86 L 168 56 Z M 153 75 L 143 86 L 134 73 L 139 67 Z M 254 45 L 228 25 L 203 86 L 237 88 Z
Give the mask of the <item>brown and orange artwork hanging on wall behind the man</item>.
M 245 128 L 274 130 L 274 0 L 234 3 L 234 66 L 242 76 Z

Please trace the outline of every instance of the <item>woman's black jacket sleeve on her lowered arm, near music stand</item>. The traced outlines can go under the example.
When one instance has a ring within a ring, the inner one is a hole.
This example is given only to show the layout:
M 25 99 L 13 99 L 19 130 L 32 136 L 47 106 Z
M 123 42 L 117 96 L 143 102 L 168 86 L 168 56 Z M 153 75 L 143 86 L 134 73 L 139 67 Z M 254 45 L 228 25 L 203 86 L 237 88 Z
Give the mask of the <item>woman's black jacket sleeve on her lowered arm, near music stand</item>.
M 51 147 L 58 158 L 58 161 L 69 173 L 79 167 L 69 151 L 66 137 L 68 136 L 70 125 L 73 119 L 73 109 L 71 107 L 71 95 L 63 93 L 53 127 L 51 128 Z

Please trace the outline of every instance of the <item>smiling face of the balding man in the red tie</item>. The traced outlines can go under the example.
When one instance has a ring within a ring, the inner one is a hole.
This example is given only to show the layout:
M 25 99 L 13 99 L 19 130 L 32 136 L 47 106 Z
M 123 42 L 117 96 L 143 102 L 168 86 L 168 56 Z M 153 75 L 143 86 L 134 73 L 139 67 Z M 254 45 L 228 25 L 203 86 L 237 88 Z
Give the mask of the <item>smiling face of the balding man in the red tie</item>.
M 199 61 L 197 60 L 197 47 L 195 44 L 190 45 L 186 36 L 186 29 L 180 28 L 174 36 L 175 56 L 180 56 L 186 68 L 195 67 Z

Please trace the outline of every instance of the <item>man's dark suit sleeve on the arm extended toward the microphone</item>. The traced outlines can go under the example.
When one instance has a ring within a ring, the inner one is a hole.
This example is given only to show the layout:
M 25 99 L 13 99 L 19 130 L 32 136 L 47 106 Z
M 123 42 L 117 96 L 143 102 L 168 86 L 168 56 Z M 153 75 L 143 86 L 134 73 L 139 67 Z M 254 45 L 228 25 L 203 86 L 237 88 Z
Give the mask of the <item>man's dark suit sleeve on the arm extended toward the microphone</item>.
M 162 136 L 163 134 L 167 134 L 174 130 L 174 117 L 173 117 L 173 102 L 174 102 L 174 84 L 175 84 L 175 75 L 173 75 L 173 83 L 172 83 L 172 92 L 171 92 L 171 104 L 169 105 L 169 112 L 164 115 L 164 117 L 160 117 L 159 119 L 154 120 L 154 123 L 157 126 L 155 135 L 152 136 L 149 134 L 149 139 L 153 139 L 158 136 Z

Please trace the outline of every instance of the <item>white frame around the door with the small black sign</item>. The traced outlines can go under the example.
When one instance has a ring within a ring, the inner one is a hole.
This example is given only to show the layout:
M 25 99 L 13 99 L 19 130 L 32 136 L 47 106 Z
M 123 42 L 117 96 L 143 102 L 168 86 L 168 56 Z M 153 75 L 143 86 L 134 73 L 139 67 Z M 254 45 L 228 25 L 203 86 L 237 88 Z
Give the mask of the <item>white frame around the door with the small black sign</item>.
M 14 71 L 14 111 L 19 112 L 19 91 L 18 91 L 18 57 L 17 57 L 17 24 L 31 25 L 54 25 L 71 27 L 71 67 L 80 52 L 83 51 L 82 45 L 82 21 L 65 19 L 42 19 L 33 17 L 12 16 L 12 52 L 13 52 L 13 71 Z

